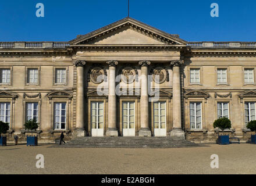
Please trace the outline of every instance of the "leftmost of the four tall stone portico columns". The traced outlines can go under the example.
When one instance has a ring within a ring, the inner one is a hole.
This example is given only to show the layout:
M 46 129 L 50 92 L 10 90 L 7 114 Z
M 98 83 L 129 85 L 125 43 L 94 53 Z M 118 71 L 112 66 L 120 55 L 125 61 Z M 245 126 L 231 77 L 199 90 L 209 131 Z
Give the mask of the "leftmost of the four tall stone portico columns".
M 84 127 L 84 65 L 86 62 L 77 60 L 74 62 L 77 69 L 77 85 L 76 85 L 76 130 L 74 135 L 81 137 L 86 135 Z

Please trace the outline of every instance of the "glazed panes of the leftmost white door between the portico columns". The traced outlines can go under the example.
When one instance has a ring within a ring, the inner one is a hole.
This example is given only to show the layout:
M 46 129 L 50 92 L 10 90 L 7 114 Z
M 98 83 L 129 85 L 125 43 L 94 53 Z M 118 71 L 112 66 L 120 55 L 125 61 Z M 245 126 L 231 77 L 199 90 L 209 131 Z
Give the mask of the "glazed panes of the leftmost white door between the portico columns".
M 104 103 L 91 102 L 91 126 L 92 128 L 103 128 L 104 124 Z

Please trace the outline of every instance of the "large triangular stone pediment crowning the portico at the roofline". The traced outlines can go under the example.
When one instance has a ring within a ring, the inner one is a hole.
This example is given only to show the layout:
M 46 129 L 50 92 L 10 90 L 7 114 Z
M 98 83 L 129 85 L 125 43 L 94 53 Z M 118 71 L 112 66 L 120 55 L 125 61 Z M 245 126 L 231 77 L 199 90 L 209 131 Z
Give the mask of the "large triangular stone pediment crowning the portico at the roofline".
M 184 45 L 178 35 L 165 33 L 157 28 L 126 17 L 70 41 L 70 46 L 81 45 Z

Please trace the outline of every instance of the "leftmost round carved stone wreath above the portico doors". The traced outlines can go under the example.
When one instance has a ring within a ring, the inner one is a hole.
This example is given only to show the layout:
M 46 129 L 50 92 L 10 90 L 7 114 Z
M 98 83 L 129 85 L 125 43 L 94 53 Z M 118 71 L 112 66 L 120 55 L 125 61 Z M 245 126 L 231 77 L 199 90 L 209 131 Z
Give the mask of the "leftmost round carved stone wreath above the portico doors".
M 88 82 L 92 81 L 95 84 L 100 84 L 104 81 L 104 78 L 101 78 L 99 81 L 97 81 L 97 78 L 99 76 L 104 76 L 106 78 L 106 70 L 102 66 L 93 66 L 88 71 Z

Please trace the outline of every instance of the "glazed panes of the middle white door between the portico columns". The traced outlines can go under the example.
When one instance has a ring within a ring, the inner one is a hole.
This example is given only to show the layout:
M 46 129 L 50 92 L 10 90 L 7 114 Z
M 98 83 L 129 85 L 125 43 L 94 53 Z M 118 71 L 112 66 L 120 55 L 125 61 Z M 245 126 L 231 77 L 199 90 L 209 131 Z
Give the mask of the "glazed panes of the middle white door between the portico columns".
M 123 102 L 123 128 L 135 128 L 135 102 Z

